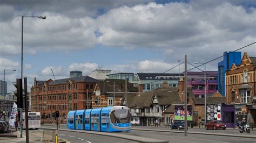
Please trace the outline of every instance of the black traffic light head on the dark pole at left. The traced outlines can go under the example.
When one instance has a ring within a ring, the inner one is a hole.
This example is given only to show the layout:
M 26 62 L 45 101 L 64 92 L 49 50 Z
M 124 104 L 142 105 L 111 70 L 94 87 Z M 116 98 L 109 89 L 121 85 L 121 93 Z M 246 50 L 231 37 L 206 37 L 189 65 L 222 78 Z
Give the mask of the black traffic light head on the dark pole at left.
M 23 108 L 22 79 L 16 78 L 16 83 L 14 83 L 14 86 L 17 89 L 16 91 L 14 91 L 14 94 L 17 96 L 17 106 L 18 108 Z

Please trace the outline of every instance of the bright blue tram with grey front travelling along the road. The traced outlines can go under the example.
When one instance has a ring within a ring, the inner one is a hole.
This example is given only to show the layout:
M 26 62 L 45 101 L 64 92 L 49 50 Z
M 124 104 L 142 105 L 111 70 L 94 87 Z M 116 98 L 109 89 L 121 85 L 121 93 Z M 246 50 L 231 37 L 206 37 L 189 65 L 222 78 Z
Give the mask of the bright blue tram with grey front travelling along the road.
M 73 130 L 130 131 L 130 111 L 126 106 L 69 111 L 66 126 Z

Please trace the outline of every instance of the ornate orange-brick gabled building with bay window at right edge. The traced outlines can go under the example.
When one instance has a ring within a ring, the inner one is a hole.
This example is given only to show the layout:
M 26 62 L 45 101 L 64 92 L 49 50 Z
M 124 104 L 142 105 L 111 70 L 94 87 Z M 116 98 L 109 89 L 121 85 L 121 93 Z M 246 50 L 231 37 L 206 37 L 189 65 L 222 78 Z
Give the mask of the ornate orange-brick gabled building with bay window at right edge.
M 250 123 L 256 121 L 256 108 L 253 108 L 256 106 L 255 70 L 256 57 L 250 57 L 245 52 L 240 65 L 233 63 L 231 69 L 226 71 L 227 103 L 234 104 L 239 120 L 246 118 Z

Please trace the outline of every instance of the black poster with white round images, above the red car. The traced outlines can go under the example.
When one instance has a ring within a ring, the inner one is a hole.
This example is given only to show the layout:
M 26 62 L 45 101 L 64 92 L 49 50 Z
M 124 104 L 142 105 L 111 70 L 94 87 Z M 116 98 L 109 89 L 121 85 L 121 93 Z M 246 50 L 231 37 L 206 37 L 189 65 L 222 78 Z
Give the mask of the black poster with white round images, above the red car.
M 207 120 L 221 120 L 221 104 L 207 105 Z

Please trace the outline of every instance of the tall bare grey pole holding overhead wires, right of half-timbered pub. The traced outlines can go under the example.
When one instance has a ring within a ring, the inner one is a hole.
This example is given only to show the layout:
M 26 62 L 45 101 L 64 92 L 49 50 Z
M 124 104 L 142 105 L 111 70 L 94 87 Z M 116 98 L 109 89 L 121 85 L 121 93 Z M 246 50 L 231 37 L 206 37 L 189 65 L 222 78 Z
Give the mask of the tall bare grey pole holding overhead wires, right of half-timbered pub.
M 185 130 L 184 135 L 187 136 L 187 55 L 185 55 Z

